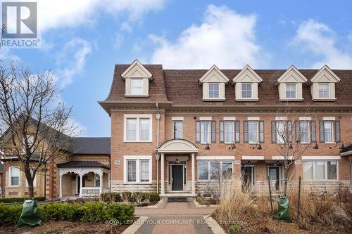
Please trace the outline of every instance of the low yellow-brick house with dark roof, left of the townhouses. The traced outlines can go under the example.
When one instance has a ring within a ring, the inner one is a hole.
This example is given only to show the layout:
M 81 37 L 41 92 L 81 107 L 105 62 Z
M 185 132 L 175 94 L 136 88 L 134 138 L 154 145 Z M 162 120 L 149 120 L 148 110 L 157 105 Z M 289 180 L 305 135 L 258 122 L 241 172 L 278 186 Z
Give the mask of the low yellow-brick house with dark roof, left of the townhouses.
M 34 196 L 56 200 L 64 197 L 94 196 L 109 189 L 110 138 L 70 137 L 61 157 L 53 157 L 37 171 Z M 39 152 L 37 152 L 39 154 Z M 4 150 L 4 197 L 27 197 L 27 179 L 18 157 Z M 38 161 L 37 161 L 38 162 Z M 32 164 L 36 163 L 35 157 Z M 0 164 L 1 165 L 1 164 Z M 46 183 L 44 183 L 46 181 Z

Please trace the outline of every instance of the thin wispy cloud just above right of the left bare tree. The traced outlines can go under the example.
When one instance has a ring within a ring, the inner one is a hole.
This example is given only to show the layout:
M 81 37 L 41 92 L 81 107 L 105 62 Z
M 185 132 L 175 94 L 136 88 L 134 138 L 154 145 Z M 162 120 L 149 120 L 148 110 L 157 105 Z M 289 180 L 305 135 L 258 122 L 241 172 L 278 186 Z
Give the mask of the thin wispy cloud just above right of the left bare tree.
M 58 86 L 64 88 L 73 82 L 75 75 L 82 72 L 90 53 L 92 46 L 84 39 L 74 38 L 63 46 L 62 51 L 56 55 L 57 69 L 54 74 Z

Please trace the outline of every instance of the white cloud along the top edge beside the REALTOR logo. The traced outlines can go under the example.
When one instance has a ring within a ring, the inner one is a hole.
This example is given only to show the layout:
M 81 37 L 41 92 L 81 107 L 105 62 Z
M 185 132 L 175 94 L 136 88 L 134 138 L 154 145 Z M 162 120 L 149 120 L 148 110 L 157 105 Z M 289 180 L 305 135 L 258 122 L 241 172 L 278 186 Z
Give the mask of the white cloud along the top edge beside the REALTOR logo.
M 92 25 L 100 11 L 124 17 L 122 23 L 136 22 L 149 13 L 163 8 L 166 0 L 39 0 L 38 25 L 46 31 L 58 27 Z

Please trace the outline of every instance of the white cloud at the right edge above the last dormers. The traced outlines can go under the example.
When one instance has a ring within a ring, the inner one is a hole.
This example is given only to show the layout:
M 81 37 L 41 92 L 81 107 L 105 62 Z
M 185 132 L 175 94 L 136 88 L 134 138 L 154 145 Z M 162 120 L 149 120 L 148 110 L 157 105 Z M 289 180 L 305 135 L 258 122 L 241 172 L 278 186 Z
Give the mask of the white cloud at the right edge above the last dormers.
M 334 69 L 351 69 L 352 53 L 341 48 L 340 41 L 341 37 L 338 39 L 337 34 L 327 25 L 310 19 L 298 26 L 291 44 L 306 56 L 315 58 L 310 65 L 313 68 L 326 64 Z

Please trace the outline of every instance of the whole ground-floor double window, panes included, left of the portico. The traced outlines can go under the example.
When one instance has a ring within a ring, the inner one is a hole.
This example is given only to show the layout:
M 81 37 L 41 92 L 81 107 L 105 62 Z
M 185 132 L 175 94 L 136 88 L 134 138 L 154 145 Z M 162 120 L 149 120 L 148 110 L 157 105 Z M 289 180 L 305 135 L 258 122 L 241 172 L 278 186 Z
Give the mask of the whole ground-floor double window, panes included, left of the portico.
M 125 183 L 151 183 L 151 156 L 127 155 Z

